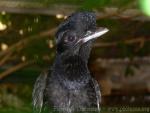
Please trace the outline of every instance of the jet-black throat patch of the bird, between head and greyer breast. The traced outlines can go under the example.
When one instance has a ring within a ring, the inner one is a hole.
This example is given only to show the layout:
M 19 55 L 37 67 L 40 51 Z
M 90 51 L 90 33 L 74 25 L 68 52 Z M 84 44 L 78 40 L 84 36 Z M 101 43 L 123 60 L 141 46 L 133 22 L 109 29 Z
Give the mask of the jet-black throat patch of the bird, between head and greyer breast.
M 62 79 L 69 81 L 84 81 L 89 75 L 87 62 L 80 56 L 69 56 L 66 59 L 57 60 L 56 70 L 59 70 Z

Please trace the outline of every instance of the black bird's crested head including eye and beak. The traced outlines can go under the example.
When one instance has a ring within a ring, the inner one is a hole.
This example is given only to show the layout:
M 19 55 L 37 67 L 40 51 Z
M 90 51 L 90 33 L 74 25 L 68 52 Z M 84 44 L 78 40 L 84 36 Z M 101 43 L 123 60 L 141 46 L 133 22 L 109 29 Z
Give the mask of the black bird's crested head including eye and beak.
M 106 32 L 107 28 L 96 26 L 96 16 L 93 12 L 73 13 L 58 27 L 57 53 L 65 58 L 79 56 L 87 61 L 92 42 Z

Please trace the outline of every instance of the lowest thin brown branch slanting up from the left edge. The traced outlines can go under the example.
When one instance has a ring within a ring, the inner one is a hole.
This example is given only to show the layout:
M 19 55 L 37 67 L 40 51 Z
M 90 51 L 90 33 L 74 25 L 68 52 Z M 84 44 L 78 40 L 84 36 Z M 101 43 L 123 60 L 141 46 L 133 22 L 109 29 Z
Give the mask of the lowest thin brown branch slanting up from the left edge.
M 13 66 L 12 68 L 9 68 L 8 70 L 0 73 L 0 80 L 3 79 L 4 77 L 6 77 L 7 75 L 27 66 L 29 64 L 32 64 L 32 63 L 33 63 L 33 61 L 21 62 L 21 63 L 17 64 L 16 66 Z

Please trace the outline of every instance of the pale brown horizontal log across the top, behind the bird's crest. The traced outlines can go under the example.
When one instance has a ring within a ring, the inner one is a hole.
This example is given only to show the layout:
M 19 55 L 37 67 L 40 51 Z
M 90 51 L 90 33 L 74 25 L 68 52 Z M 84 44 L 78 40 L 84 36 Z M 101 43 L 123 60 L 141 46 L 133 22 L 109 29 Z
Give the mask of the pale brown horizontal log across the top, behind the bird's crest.
M 21 14 L 43 14 L 43 15 L 53 15 L 63 14 L 70 15 L 71 13 L 77 11 L 80 5 L 66 5 L 66 4 L 51 4 L 46 6 L 39 2 L 29 2 L 29 1 L 11 1 L 11 0 L 1 0 L 0 1 L 0 11 L 6 11 L 9 13 L 21 13 Z M 132 6 L 130 6 L 132 7 Z M 106 7 L 98 10 L 96 9 L 96 15 L 98 19 L 101 18 L 123 18 L 138 21 L 150 21 L 150 17 L 145 16 L 138 9 L 120 9 L 118 7 Z

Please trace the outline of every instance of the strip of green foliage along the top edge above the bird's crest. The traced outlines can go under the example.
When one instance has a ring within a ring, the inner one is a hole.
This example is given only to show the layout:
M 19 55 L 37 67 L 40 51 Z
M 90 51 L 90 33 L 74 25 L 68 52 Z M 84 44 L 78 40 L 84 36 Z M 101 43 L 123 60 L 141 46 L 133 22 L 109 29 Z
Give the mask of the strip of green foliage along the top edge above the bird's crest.
M 36 2 L 35 0 L 32 0 Z M 51 6 L 53 4 L 68 4 L 80 6 L 80 10 L 93 10 L 108 6 L 125 7 L 132 4 L 132 0 L 38 0 L 38 2 L 45 6 Z

